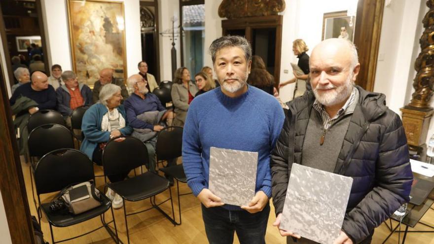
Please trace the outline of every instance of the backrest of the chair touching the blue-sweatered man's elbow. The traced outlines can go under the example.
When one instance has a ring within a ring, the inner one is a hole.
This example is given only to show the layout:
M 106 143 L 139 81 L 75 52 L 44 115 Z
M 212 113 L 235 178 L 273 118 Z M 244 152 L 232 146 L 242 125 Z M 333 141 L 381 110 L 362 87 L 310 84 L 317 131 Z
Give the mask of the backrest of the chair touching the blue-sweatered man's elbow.
M 155 154 L 158 160 L 181 157 L 182 127 L 167 127 L 158 132 Z

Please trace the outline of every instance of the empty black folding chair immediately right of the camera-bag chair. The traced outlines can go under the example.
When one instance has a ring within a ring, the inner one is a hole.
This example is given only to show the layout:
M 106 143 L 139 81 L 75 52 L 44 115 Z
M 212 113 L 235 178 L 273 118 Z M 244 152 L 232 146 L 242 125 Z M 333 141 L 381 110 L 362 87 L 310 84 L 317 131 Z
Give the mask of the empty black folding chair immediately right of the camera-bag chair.
M 124 140 L 117 142 L 116 139 L 120 138 Z M 130 136 L 121 136 L 111 139 L 103 151 L 104 173 L 109 176 L 109 178 L 112 175 L 128 174 L 130 171 L 148 164 L 148 161 L 149 159 L 145 144 L 141 140 Z M 128 243 L 130 243 L 127 222 L 127 216 L 129 215 L 141 213 L 150 209 L 157 209 L 174 225 L 176 225 L 174 220 L 175 211 L 173 209 L 172 191 L 169 187 L 169 180 L 166 178 L 148 171 L 132 178 L 108 183 L 107 186 L 122 197 Z M 167 189 L 169 189 L 170 198 L 157 204 L 155 202 L 155 196 Z M 125 208 L 126 201 L 136 202 L 146 198 L 149 198 L 152 205 L 151 208 L 127 214 Z M 159 207 L 161 204 L 169 200 L 172 205 L 172 214 L 174 218 L 171 218 Z

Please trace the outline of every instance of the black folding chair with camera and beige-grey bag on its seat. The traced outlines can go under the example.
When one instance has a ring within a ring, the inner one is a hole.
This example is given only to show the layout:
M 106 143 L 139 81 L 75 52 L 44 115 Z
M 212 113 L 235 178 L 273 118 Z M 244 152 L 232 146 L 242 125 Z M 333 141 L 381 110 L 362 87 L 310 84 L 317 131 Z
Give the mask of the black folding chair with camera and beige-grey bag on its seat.
M 50 225 L 51 240 L 53 244 L 56 242 L 54 241 L 52 226 L 67 227 L 84 222 L 97 216 L 101 217 L 101 222 L 103 224 L 101 227 L 98 227 L 97 229 L 86 232 L 85 234 L 79 236 L 58 241 L 57 243 L 82 237 L 103 227 L 105 227 L 106 230 L 109 232 L 110 237 L 116 243 L 119 243 L 116 222 L 114 220 L 113 209 L 111 208 L 111 202 L 109 198 L 104 195 L 104 193 L 100 194 L 100 198 L 102 200 L 101 206 L 79 214 L 72 214 L 66 211 L 53 212 L 49 207 L 50 203 L 41 203 L 40 201 L 40 194 L 60 191 L 71 184 L 81 183 L 89 180 L 93 180 L 95 182 L 93 164 L 87 157 L 87 155 L 75 149 L 57 149 L 51 151 L 48 154 L 44 155 L 37 163 L 35 169 L 35 184 L 37 199 L 40 206 L 37 209 L 38 218 L 40 223 L 42 212 L 46 216 L 48 224 Z M 113 220 L 106 223 L 104 214 L 109 209 L 111 209 Z M 109 226 L 109 224 L 111 222 L 113 222 L 116 234 L 114 234 L 110 229 L 111 226 Z

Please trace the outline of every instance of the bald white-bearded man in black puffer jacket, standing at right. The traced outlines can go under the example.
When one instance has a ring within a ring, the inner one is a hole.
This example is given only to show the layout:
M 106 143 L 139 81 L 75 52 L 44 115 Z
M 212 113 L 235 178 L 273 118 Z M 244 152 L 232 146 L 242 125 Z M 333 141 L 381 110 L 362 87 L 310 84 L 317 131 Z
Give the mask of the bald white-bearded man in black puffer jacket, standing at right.
M 312 51 L 313 92 L 289 102 L 271 156 L 273 203 L 279 228 L 292 164 L 353 178 L 340 236 L 334 244 L 366 244 L 375 227 L 409 201 L 412 173 L 402 122 L 383 94 L 354 84 L 360 64 L 350 41 L 331 38 Z M 318 182 L 322 184 L 321 182 Z M 287 243 L 300 238 L 281 230 Z M 296 243 L 315 243 L 301 238 Z

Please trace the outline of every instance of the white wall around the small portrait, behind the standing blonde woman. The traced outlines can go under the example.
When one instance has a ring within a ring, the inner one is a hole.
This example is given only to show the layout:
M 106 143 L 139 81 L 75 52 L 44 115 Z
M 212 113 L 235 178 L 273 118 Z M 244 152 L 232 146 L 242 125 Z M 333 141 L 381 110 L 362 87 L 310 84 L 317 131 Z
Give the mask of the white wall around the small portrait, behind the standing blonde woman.
M 292 53 L 292 41 L 303 39 L 310 56 L 312 48 L 321 42 L 323 33 L 323 15 L 328 12 L 355 9 L 357 0 L 287 0 L 283 15 L 282 57 L 280 82 L 285 82 L 293 76 L 290 63 L 297 63 L 298 59 Z M 315 7 L 312 7 L 315 6 Z M 285 73 L 288 70 L 288 73 Z M 280 90 L 282 101 L 292 99 L 295 84 L 287 85 Z

